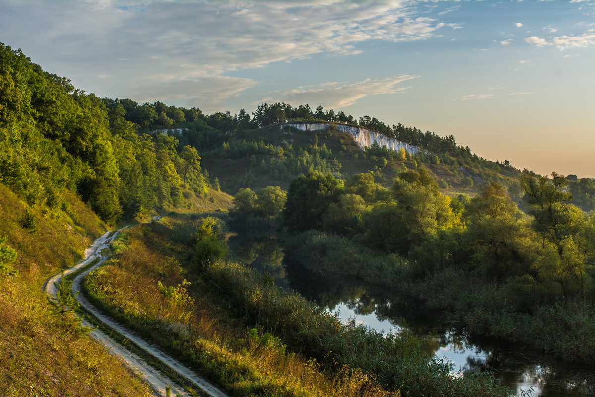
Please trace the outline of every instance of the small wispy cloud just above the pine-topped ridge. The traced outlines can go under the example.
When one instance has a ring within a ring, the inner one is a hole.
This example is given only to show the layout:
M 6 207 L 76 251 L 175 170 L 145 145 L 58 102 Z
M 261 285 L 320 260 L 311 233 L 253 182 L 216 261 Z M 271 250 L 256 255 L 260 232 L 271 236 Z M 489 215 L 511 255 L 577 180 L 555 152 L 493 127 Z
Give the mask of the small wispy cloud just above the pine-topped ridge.
M 356 83 L 326 83 L 317 86 L 303 86 L 284 92 L 283 101 L 296 104 L 325 104 L 331 108 L 341 108 L 355 104 L 369 95 L 395 94 L 411 87 L 397 87 L 399 83 L 416 79 L 419 76 L 403 75 L 387 79 L 366 79 Z M 322 87 L 322 88 L 321 88 Z

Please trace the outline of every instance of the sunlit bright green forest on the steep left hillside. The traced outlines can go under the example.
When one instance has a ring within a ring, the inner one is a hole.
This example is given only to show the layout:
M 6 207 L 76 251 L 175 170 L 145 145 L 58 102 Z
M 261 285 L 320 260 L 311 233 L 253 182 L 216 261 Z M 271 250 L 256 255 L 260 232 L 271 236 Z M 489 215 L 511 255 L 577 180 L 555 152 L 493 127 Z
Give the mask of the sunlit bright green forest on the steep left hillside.
M 123 105 L 108 108 L 9 46 L 0 45 L 0 73 L 0 182 L 28 205 L 62 211 L 76 192 L 114 223 L 180 204 L 184 185 L 206 192 L 196 150 L 139 133 L 144 116 L 126 120 Z

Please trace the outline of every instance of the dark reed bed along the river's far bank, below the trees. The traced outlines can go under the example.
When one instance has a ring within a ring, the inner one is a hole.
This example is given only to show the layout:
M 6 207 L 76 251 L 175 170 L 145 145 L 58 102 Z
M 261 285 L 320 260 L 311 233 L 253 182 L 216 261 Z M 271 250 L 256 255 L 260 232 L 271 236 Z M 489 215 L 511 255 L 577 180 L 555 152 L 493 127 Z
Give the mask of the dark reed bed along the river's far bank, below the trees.
M 519 311 L 522 296 L 512 283 L 495 285 L 447 268 L 415 279 L 406 260 L 359 247 L 349 239 L 306 232 L 290 243 L 293 254 L 321 273 L 341 273 L 390 286 L 446 312 L 472 335 L 494 337 L 553 352 L 565 360 L 595 362 L 595 310 L 586 301 L 560 300 Z

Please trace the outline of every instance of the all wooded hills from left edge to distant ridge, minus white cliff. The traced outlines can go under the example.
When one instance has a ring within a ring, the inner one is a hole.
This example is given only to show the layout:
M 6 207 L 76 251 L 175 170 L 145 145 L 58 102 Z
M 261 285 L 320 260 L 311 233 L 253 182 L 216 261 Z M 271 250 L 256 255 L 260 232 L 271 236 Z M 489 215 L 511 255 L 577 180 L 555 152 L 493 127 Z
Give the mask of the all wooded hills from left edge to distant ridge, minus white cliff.
M 98 98 L 3 44 L 0 79 L 0 182 L 28 205 L 50 212 L 65 209 L 70 191 L 102 220 L 115 223 L 156 206 L 180 205 L 184 189 L 205 195 L 219 180 L 235 193 L 242 187 L 287 187 L 300 173 L 317 170 L 337 176 L 369 172 L 390 186 L 399 171 L 417 167 L 427 168 L 451 195 L 473 195 L 498 182 L 520 199 L 519 170 L 508 161 L 484 160 L 456 145 L 452 135 L 389 127 L 367 115 L 355 120 L 322 106 L 284 103 L 259 105 L 252 114 L 242 109 L 205 115 L 159 101 Z M 424 151 L 411 155 L 376 145 L 362 152 L 349 135 L 332 128 L 302 133 L 283 127 L 296 120 L 365 127 Z M 177 130 L 155 132 L 170 128 Z M 574 185 L 575 196 L 585 198 L 583 209 L 592 209 L 593 181 Z

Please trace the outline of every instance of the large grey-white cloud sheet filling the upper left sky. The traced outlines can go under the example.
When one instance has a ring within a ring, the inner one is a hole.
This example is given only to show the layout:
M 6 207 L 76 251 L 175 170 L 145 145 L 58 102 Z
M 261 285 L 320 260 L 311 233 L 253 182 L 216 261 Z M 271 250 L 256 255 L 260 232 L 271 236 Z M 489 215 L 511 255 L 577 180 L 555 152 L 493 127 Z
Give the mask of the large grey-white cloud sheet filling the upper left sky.
M 461 27 L 402 1 L 64 0 L 11 2 L 5 8 L 11 18 L 3 18 L 3 41 L 31 37 L 20 46 L 35 49 L 43 59 L 37 62 L 48 70 L 57 73 L 59 65 L 60 74 L 87 92 L 121 97 L 136 92 L 133 99 L 140 102 L 179 97 L 181 89 L 184 98 L 218 104 L 256 85 L 238 80 L 232 89 L 224 78 L 229 72 L 317 54 L 359 54 L 368 40 L 425 40 Z M 98 83 L 99 75 L 117 79 Z M 211 91 L 206 79 L 212 79 Z

